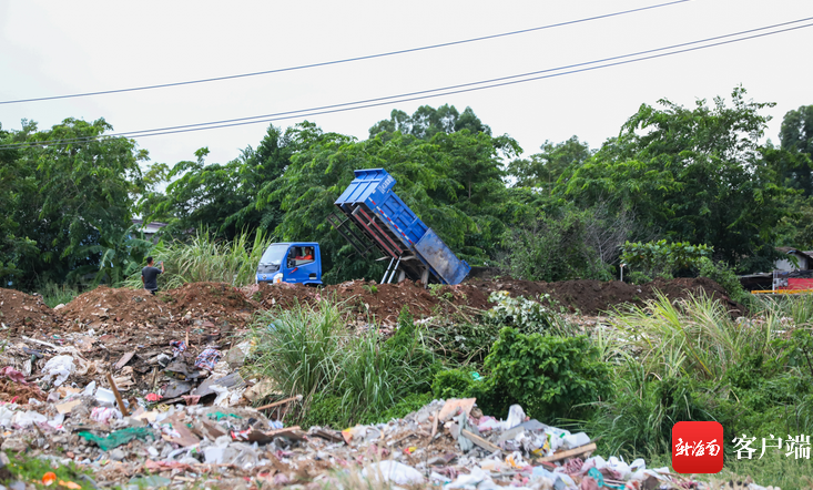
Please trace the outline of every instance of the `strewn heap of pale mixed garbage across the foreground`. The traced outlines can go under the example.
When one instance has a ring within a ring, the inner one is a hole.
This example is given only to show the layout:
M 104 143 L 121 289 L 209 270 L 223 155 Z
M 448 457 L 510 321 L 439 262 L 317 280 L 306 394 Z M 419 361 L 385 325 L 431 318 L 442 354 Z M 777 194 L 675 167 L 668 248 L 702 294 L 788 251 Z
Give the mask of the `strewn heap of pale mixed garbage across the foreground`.
M 92 470 L 85 479 L 96 488 L 329 488 L 350 474 L 395 488 L 707 488 L 668 468 L 648 468 L 642 459 L 593 456 L 588 435 L 530 419 L 516 405 L 498 420 L 484 415 L 474 398 L 435 400 L 386 423 L 305 431 L 262 411 L 284 415 L 276 409 L 296 399 L 245 406 L 257 399 L 252 390 L 271 386 L 267 380 L 251 390 L 212 382 L 212 392 L 172 404 L 151 394 L 125 400 L 114 380 L 106 388 L 95 380 L 73 386 L 70 357 L 45 363 L 45 389 L 11 367 L 0 370 L 4 382 L 27 390 L 0 404 L 0 449 L 58 466 L 74 462 Z

